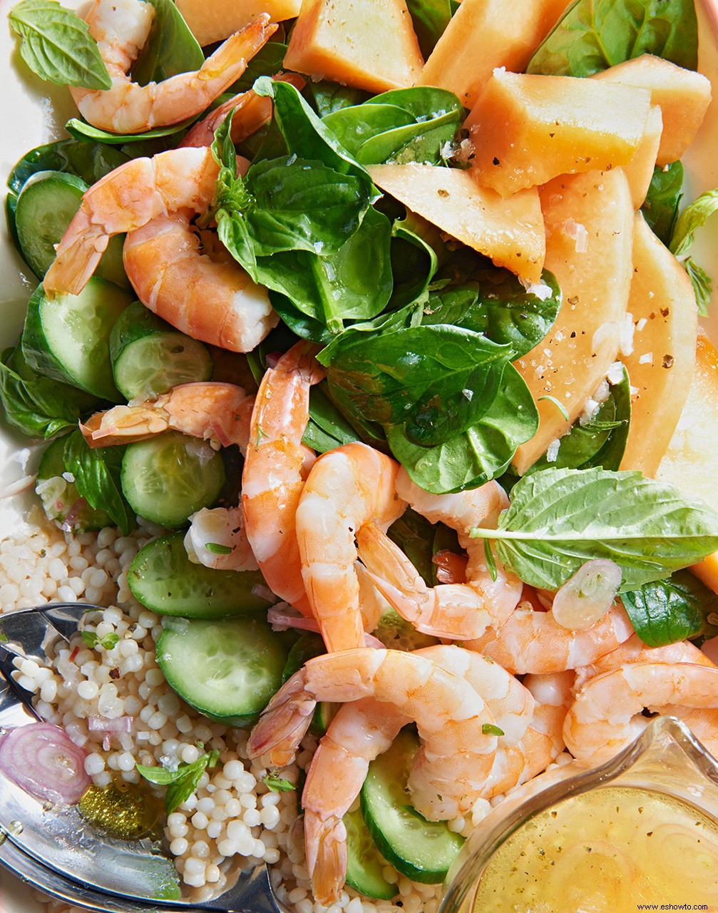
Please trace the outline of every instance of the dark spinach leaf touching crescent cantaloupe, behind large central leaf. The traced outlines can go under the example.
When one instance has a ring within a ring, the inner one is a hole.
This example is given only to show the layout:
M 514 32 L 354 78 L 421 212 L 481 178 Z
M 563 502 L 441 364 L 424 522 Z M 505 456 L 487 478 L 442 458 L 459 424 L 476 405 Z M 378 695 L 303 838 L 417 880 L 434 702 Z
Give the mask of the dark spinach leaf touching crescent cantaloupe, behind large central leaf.
M 561 309 L 561 289 L 547 271 L 541 297 L 526 290 L 506 269 L 479 268 L 458 285 L 442 285 L 441 276 L 440 272 L 435 278 L 436 290 L 430 293 L 421 322 L 453 323 L 483 333 L 494 342 L 510 345 L 512 361 L 544 339 Z

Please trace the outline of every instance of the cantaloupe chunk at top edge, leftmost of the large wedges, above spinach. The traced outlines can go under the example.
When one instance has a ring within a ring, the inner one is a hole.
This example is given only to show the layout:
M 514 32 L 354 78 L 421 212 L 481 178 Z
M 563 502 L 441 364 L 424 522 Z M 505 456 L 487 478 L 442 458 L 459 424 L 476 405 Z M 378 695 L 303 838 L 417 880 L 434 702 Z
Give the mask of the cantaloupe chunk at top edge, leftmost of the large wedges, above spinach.
M 287 69 L 384 92 L 413 86 L 423 67 L 404 0 L 304 0 Z

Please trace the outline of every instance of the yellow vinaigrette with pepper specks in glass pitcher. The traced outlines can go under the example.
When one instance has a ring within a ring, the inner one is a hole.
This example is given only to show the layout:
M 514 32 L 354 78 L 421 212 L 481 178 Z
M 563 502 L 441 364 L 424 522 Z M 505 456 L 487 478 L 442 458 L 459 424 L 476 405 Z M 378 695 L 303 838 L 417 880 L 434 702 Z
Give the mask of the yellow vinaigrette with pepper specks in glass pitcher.
M 671 796 L 616 786 L 523 824 L 496 850 L 473 906 L 463 909 L 633 913 L 639 904 L 718 911 L 718 824 Z

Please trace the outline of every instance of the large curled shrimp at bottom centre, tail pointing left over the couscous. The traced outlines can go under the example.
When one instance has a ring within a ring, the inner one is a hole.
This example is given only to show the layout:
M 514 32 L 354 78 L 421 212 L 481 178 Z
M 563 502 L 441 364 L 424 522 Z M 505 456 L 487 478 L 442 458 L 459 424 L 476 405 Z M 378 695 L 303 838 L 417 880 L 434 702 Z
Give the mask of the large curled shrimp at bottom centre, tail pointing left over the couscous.
M 318 700 L 369 697 L 416 721 L 422 744 L 409 777 L 414 807 L 432 821 L 467 812 L 494 766 L 496 738 L 484 732 L 494 718 L 462 677 L 415 653 L 363 647 L 310 659 L 270 700 L 250 734 L 249 756 L 266 753 L 282 766 Z

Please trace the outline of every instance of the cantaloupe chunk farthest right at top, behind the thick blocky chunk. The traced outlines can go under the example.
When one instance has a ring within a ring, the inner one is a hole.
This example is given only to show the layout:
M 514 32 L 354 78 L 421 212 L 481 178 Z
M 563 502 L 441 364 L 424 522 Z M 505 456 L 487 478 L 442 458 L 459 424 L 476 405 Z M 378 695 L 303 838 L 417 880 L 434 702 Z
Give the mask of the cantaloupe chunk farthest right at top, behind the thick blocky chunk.
M 661 106 L 663 133 L 657 163 L 680 159 L 693 142 L 711 102 L 711 83 L 701 73 L 677 67 L 670 60 L 642 54 L 591 79 L 650 89 L 650 102 Z

